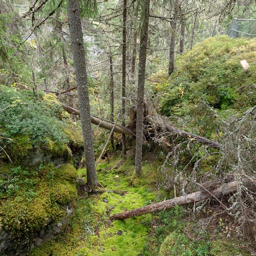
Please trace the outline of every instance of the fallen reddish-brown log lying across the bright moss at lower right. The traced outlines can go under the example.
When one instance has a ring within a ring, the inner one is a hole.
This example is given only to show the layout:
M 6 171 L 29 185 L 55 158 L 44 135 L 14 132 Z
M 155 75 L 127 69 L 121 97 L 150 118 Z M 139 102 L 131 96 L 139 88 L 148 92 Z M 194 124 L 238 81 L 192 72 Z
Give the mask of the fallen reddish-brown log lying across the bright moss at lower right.
M 199 202 L 209 198 L 220 198 L 224 195 L 232 194 L 237 191 L 238 183 L 236 181 L 219 186 L 210 194 L 207 191 L 197 191 L 192 194 L 188 194 L 182 197 L 176 197 L 167 201 L 159 202 L 156 204 L 147 205 L 134 210 L 124 211 L 120 214 L 115 214 L 111 217 L 112 220 L 124 220 L 131 217 L 141 216 L 144 214 L 150 214 L 160 210 L 170 209 L 176 205 L 185 205 L 189 203 Z

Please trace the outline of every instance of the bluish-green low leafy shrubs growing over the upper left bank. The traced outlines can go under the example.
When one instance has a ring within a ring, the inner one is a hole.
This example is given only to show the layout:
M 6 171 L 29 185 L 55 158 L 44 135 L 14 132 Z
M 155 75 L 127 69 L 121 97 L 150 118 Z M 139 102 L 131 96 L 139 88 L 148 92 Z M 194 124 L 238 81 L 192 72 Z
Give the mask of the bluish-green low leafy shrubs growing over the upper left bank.
M 63 156 L 65 152 L 71 155 L 57 102 L 49 101 L 49 96 L 39 102 L 32 91 L 5 86 L 0 90 L 0 110 L 9 106 L 0 116 L 0 143 L 6 142 L 4 138 L 11 139 L 6 150 L 11 158 L 22 159 L 37 147 L 53 156 Z

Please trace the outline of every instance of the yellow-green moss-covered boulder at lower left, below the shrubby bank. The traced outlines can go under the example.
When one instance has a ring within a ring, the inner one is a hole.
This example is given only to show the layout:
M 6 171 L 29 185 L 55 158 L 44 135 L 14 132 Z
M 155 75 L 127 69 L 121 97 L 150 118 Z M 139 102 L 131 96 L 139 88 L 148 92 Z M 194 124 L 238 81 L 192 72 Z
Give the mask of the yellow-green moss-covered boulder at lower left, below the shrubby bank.
M 55 168 L 2 168 L 0 180 L 1 225 L 11 234 L 29 234 L 49 221 L 60 221 L 64 204 L 76 198 L 76 169 L 71 164 Z

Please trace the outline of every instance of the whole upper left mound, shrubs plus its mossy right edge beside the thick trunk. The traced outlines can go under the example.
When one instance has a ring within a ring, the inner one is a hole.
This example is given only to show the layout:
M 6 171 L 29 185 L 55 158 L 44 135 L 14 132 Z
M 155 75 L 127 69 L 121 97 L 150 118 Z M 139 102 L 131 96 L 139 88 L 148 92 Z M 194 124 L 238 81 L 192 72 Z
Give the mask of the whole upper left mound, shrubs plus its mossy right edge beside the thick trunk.
M 55 95 L 39 92 L 40 102 L 32 90 L 6 86 L 0 90 L 0 143 L 5 148 L 0 157 L 4 161 L 35 164 L 59 158 L 67 162 L 73 154 L 82 154 L 81 128 L 69 119 Z

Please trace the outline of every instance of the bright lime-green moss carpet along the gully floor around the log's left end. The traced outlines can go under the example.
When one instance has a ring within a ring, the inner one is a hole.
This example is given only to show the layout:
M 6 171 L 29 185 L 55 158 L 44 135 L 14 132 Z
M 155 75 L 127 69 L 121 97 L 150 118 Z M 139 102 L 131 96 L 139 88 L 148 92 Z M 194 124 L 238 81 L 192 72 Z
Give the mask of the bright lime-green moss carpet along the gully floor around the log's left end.
M 120 162 L 122 164 L 120 164 Z M 65 243 L 60 241 L 46 243 L 35 248 L 31 255 L 45 255 L 45 251 L 58 256 L 69 255 L 137 255 L 143 248 L 152 216 L 143 216 L 125 221 L 110 222 L 109 216 L 125 209 L 133 209 L 154 198 L 154 193 L 142 186 L 131 186 L 131 178 L 127 178 L 127 168 L 134 171 L 132 160 L 127 162 L 115 159 L 106 166 L 102 161 L 99 165 L 98 181 L 106 190 L 127 191 L 124 195 L 103 193 L 90 198 L 77 200 L 75 210 L 70 216 L 70 233 L 65 236 Z M 119 167 L 117 167 L 119 166 Z M 125 166 L 125 167 L 124 167 Z M 109 169 L 112 167 L 113 169 Z M 117 169 L 116 169 L 117 167 Z M 85 169 L 80 174 L 86 173 Z M 55 174 L 53 176 L 56 176 Z M 104 201 L 103 201 L 104 200 Z M 61 245 L 61 246 L 59 246 Z M 45 249 L 44 249 L 45 248 Z M 40 254 L 42 253 L 42 254 Z

